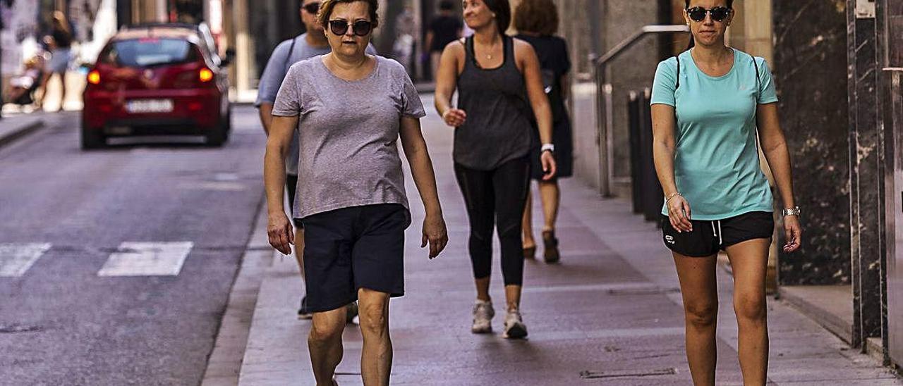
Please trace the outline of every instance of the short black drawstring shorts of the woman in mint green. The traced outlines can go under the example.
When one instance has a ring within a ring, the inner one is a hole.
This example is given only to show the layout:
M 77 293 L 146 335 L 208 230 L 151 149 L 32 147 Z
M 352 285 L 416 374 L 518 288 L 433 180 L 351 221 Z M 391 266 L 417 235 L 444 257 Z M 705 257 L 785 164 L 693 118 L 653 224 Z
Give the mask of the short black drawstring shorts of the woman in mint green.
M 662 240 L 675 253 L 707 257 L 733 244 L 771 238 L 775 219 L 771 212 L 749 212 L 723 220 L 691 220 L 693 232 L 677 233 L 671 220 L 662 216 Z

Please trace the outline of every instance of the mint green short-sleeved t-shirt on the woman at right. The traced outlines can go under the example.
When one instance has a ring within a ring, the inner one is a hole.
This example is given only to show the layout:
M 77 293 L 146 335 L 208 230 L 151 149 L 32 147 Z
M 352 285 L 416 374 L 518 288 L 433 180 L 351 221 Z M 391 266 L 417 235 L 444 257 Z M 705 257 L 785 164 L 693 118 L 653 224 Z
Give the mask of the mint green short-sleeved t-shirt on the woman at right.
M 696 67 L 690 51 L 658 63 L 650 105 L 675 107 L 675 182 L 694 220 L 722 220 L 773 211 L 768 179 L 759 166 L 756 108 L 777 102 L 771 71 L 762 58 L 733 50 L 734 65 L 721 77 Z M 756 67 L 759 64 L 759 82 Z M 667 216 L 663 205 L 662 215 Z

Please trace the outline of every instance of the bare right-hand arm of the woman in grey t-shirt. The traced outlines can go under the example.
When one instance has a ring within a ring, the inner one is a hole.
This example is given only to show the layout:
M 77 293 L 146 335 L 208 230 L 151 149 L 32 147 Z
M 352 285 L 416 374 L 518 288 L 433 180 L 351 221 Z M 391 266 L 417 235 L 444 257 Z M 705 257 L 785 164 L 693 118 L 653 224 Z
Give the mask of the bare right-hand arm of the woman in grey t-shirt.
M 448 232 L 442 219 L 442 206 L 439 204 L 439 193 L 436 190 L 436 175 L 433 161 L 426 148 L 426 141 L 420 129 L 420 120 L 405 116 L 401 119 L 401 144 L 405 149 L 405 157 L 411 165 L 414 184 L 424 201 L 426 218 L 424 219 L 424 235 L 422 248 L 430 244 L 430 258 L 442 253 L 448 244 Z

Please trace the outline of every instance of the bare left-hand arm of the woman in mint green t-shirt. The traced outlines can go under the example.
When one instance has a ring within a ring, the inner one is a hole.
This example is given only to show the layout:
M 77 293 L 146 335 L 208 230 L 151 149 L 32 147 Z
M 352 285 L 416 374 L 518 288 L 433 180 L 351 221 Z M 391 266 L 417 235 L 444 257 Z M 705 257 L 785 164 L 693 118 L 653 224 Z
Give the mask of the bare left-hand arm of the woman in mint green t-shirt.
M 678 196 L 675 183 L 675 107 L 652 105 L 652 157 L 658 182 L 667 198 L 668 219 L 678 232 L 692 232 L 690 204 Z

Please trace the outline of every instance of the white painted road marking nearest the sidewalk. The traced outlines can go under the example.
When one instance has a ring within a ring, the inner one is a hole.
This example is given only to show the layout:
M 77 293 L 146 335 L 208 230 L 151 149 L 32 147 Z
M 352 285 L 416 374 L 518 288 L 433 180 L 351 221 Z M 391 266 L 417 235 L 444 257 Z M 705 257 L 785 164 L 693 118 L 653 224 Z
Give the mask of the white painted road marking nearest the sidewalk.
M 123 243 L 98 276 L 178 276 L 194 243 Z

